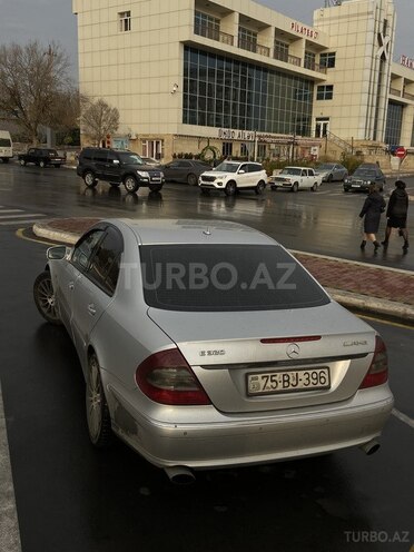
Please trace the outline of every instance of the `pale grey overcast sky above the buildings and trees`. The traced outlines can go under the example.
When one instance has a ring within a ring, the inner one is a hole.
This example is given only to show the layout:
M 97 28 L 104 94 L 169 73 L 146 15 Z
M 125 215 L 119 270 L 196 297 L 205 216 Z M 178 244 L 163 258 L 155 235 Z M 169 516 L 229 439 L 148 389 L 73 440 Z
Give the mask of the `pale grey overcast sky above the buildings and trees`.
M 169 0 L 164 0 L 169 1 Z M 275 11 L 312 24 L 314 10 L 329 3 L 326 0 L 256 0 Z M 394 60 L 401 55 L 414 59 L 414 0 L 394 0 L 397 32 Z M 69 53 L 77 73 L 77 28 L 71 0 L 0 0 L 0 45 L 27 43 L 39 40 L 46 46 L 59 42 Z

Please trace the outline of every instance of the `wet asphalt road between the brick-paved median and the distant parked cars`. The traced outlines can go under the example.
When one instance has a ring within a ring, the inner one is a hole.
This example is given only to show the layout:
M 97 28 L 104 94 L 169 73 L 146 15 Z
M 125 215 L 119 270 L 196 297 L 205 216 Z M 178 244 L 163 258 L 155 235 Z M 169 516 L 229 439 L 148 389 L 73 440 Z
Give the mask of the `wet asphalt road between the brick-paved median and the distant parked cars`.
M 414 177 L 405 178 L 414 196 Z M 388 179 L 387 193 L 394 188 Z M 344 194 L 342 184 L 324 184 L 318 193 L 267 189 L 263 196 L 252 191 L 226 197 L 223 193 L 201 196 L 196 187 L 167 184 L 160 194 L 126 194 L 124 187 L 99 184 L 85 187 L 72 169 L 39 169 L 16 164 L 0 165 L 3 205 L 19 205 L 48 216 L 98 216 L 131 218 L 223 218 L 247 224 L 278 239 L 290 249 L 382 264 L 414 270 L 414 246 L 402 254 L 402 238 L 395 237 L 386 253 L 373 254 L 371 245 L 361 252 L 359 210 L 364 194 Z M 40 210 L 39 210 L 40 209 Z M 408 230 L 414 236 L 414 201 Z M 384 236 L 383 217 L 378 238 Z

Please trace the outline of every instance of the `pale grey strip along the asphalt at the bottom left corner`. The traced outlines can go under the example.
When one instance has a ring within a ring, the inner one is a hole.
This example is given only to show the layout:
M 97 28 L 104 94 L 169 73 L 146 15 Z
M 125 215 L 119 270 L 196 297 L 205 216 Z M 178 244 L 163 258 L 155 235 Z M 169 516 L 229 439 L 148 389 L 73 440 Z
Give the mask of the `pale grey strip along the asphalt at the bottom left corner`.
M 21 552 L 9 442 L 0 383 L 0 550 Z

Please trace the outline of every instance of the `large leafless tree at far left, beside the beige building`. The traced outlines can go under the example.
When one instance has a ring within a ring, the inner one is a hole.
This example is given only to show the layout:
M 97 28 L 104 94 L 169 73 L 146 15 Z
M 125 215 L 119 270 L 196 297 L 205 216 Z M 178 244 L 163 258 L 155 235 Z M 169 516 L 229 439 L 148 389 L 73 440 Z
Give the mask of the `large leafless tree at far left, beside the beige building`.
M 62 96 L 72 89 L 69 67 L 55 42 L 0 46 L 0 110 L 21 125 L 32 144 L 39 125 L 56 121 Z

